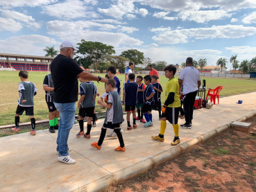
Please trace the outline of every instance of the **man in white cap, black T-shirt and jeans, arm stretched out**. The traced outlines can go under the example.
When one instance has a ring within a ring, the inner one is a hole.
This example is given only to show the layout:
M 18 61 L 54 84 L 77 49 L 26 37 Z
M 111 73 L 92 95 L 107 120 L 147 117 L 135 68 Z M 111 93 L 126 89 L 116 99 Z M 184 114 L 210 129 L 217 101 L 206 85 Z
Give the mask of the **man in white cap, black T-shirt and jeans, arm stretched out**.
M 60 125 L 57 138 L 58 161 L 65 164 L 75 164 L 69 156 L 67 139 L 74 125 L 76 101 L 78 101 L 78 77 L 108 83 L 101 76 L 94 76 L 83 71 L 73 60 L 74 51 L 78 49 L 71 42 L 65 41 L 60 45 L 60 54 L 51 62 L 51 77 L 53 80 L 53 103 L 60 112 Z

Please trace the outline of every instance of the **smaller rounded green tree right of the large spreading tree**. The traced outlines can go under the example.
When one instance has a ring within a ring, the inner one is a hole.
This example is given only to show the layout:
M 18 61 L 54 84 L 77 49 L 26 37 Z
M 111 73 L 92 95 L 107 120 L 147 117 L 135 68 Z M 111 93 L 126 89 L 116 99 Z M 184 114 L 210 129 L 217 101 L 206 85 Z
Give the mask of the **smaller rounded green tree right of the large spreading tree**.
M 131 62 L 134 62 L 135 65 L 143 64 L 143 61 L 145 59 L 144 53 L 137 51 L 137 49 L 129 49 L 127 51 L 123 51 L 120 56 L 127 58 Z

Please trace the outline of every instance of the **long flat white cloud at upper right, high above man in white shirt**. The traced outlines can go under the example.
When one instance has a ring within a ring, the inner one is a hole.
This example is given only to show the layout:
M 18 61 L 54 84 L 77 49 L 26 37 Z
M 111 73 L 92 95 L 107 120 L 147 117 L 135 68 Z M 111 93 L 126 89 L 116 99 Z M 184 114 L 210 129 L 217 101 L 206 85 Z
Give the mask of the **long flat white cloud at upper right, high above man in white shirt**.
M 182 21 L 189 20 L 196 23 L 205 23 L 211 20 L 219 20 L 225 17 L 231 17 L 232 14 L 225 10 L 198 10 L 198 11 L 185 11 L 180 12 L 178 17 Z

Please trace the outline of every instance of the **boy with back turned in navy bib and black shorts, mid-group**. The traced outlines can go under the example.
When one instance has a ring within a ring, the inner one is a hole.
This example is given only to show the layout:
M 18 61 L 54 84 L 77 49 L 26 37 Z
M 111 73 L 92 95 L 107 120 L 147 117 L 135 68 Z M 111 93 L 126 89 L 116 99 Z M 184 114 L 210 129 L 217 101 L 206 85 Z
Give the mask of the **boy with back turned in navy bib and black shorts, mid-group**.
M 129 82 L 124 84 L 123 87 L 123 104 L 125 105 L 125 111 L 127 112 L 127 130 L 136 129 L 136 112 L 135 106 L 137 104 L 137 92 L 138 92 L 138 84 L 135 81 L 135 74 L 130 73 L 128 76 Z M 133 113 L 133 127 L 130 125 L 130 112 Z

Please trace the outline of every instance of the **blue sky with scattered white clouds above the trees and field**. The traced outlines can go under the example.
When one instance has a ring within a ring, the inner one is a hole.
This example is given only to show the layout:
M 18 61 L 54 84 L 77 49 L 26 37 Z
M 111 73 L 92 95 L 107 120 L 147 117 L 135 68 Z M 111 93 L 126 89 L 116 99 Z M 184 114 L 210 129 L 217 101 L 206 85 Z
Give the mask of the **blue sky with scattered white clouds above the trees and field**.
M 1 0 L 0 53 L 45 55 L 67 40 L 103 42 L 116 55 L 144 52 L 153 62 L 187 57 L 256 57 L 255 0 Z

